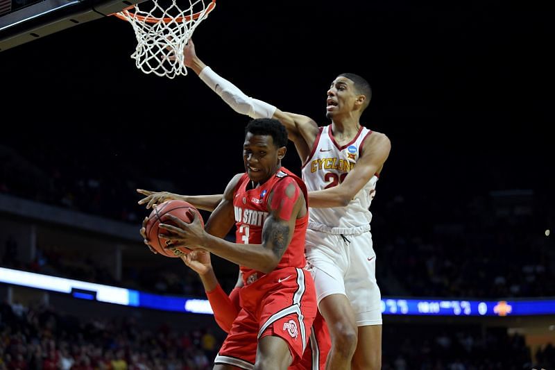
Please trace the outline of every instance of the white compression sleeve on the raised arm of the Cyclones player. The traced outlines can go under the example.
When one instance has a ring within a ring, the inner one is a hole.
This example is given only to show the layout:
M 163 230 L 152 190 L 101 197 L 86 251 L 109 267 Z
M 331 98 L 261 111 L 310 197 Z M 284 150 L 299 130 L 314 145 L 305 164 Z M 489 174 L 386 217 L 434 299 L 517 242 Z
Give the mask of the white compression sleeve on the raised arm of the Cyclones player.
M 206 66 L 198 77 L 218 94 L 235 112 L 252 118 L 271 118 L 277 108 L 264 101 L 246 96 L 239 87 L 216 74 L 212 68 Z

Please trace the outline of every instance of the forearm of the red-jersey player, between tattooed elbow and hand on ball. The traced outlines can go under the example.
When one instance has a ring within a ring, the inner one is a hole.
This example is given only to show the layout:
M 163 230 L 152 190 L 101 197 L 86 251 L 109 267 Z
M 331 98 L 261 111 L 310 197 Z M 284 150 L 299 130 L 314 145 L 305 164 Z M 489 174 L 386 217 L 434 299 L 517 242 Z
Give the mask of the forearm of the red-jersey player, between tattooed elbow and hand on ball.
M 239 244 L 205 234 L 203 248 L 239 266 L 268 273 L 280 262 L 275 253 L 261 244 Z

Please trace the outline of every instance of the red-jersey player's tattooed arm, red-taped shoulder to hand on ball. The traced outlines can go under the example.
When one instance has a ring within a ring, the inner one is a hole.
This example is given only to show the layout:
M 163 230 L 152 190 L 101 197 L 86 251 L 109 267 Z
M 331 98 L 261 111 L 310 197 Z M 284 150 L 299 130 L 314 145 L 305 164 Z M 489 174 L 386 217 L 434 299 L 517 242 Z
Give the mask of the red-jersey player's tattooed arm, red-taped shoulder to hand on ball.
M 160 228 L 169 231 L 160 237 L 170 239 L 172 247 L 205 249 L 250 269 L 264 273 L 273 271 L 291 242 L 298 215 L 306 212 L 304 196 L 295 180 L 284 178 L 278 184 L 281 186 L 276 185 L 268 195 L 268 217 L 262 229 L 262 244 L 231 243 L 206 233 L 197 219 L 187 224 L 172 215 L 167 215 L 168 219 L 178 226 L 160 224 Z M 190 217 L 195 217 L 193 212 Z

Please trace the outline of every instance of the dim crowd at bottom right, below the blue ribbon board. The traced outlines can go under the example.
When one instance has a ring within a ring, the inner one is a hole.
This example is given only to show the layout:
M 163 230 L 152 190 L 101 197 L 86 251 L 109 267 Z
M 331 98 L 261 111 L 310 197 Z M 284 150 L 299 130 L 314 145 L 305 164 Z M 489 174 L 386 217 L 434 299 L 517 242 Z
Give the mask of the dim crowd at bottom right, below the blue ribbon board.
M 384 370 L 553 369 L 555 348 L 539 348 L 535 360 L 524 337 L 506 328 L 479 326 L 384 326 Z

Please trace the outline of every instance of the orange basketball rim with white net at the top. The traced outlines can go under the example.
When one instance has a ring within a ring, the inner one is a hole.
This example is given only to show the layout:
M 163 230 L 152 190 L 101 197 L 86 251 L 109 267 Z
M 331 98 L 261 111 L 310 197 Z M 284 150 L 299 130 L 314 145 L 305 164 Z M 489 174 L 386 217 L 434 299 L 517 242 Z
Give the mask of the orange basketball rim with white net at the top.
M 137 4 L 113 14 L 133 26 L 137 48 L 131 58 L 146 74 L 186 76 L 183 47 L 214 10 L 216 0 L 151 0 L 141 6 L 145 4 L 151 4 L 151 9 L 141 10 Z

